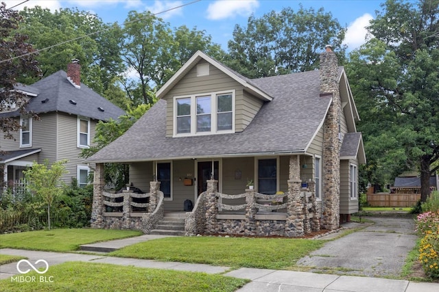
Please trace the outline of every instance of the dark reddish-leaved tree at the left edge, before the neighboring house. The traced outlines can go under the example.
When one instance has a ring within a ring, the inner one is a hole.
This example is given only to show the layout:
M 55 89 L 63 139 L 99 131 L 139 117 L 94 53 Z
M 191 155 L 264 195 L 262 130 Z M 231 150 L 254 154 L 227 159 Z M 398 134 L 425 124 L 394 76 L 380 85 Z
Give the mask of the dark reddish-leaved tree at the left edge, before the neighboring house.
M 25 94 L 14 90 L 14 85 L 20 77 L 38 77 L 40 74 L 34 48 L 26 35 L 16 31 L 21 21 L 16 11 L 0 4 L 0 113 L 20 110 L 21 114 L 29 114 L 25 111 Z M 12 138 L 12 133 L 19 128 L 16 118 L 0 116 L 0 131 L 4 137 Z

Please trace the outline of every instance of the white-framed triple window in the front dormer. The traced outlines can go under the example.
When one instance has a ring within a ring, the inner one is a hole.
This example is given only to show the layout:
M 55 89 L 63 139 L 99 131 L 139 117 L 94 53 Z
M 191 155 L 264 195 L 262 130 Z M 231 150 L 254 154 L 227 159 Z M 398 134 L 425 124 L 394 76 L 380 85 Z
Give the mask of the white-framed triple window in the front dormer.
M 232 129 L 217 130 L 217 95 L 232 94 Z M 197 132 L 197 97 L 211 96 L 211 131 Z M 191 131 L 190 133 L 177 133 L 177 101 L 180 98 L 191 98 Z M 235 133 L 235 90 L 222 90 L 217 92 L 204 92 L 200 94 L 190 94 L 184 96 L 174 96 L 173 111 L 173 135 L 174 137 L 185 137 L 195 135 L 216 135 L 225 133 Z

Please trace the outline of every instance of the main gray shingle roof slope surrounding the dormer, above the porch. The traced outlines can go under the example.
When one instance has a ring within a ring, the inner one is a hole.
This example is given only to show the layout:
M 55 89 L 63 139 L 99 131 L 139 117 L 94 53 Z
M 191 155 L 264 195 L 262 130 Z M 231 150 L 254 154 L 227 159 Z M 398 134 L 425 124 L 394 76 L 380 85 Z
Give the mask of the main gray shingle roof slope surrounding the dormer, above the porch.
M 228 155 L 303 152 L 327 114 L 318 70 L 252 79 L 270 94 L 241 133 L 165 137 L 166 101 L 159 100 L 124 135 L 88 161 L 147 161 Z

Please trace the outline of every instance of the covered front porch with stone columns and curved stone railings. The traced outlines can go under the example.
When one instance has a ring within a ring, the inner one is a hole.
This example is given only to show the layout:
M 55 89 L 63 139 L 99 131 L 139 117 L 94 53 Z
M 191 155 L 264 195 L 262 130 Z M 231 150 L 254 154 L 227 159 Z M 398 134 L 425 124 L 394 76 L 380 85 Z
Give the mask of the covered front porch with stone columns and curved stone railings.
M 91 226 L 150 233 L 165 211 L 182 211 L 185 200 L 191 200 L 186 235 L 302 236 L 320 229 L 322 215 L 316 198 L 321 189 L 320 159 L 316 163 L 313 158 L 289 155 L 132 163 L 130 182 L 145 195 L 132 189 L 118 195 L 106 193 L 104 166 L 97 163 Z M 152 179 L 145 181 L 148 176 Z M 248 186 L 251 180 L 254 188 Z M 115 196 L 119 196 L 117 202 Z M 139 198 L 144 200 L 139 202 Z M 115 206 L 119 212 L 108 212 L 108 207 Z

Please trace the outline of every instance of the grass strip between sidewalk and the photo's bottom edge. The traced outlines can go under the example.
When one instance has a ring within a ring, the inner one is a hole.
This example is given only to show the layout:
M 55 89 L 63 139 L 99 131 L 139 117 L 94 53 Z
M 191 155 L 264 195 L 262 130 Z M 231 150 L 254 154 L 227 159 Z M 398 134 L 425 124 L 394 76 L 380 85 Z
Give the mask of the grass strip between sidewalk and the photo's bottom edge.
M 2 291 L 235 291 L 249 280 L 221 275 L 147 269 L 102 263 L 62 263 L 44 275 L 32 271 L 35 282 L 1 280 Z M 40 282 L 40 276 L 53 282 Z M 52 277 L 52 278 L 49 278 Z

